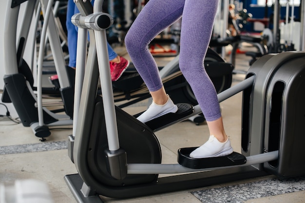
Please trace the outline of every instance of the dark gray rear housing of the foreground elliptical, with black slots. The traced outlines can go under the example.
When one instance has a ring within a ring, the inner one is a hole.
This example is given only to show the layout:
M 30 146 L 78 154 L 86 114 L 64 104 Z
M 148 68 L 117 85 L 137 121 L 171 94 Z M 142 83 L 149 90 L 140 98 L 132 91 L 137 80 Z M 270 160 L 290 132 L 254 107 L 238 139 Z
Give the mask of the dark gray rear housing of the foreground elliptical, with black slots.
M 305 52 L 268 54 L 255 62 L 244 90 L 242 153 L 279 151 L 277 160 L 257 166 L 280 177 L 304 175 Z

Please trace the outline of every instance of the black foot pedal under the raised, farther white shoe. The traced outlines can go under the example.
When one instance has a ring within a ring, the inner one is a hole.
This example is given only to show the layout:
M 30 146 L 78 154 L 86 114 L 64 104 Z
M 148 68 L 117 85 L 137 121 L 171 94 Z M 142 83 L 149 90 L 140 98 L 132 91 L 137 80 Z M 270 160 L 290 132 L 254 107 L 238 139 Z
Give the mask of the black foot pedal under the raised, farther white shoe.
M 188 103 L 177 103 L 178 110 L 176 113 L 168 113 L 158 118 L 147 121 L 145 124 L 152 130 L 163 127 L 176 120 L 184 118 L 194 112 L 194 107 Z

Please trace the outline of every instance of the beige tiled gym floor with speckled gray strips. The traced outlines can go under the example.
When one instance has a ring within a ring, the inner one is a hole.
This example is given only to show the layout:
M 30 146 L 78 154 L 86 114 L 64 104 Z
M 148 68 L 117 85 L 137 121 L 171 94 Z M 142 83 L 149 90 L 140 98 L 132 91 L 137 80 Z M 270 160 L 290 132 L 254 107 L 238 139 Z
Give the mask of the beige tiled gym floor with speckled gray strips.
M 229 47 L 229 46 L 228 46 Z M 241 50 L 250 50 L 243 44 Z M 126 51 L 115 48 L 126 58 Z M 227 49 L 227 53 L 229 48 Z M 164 66 L 173 57 L 156 57 L 159 66 Z M 226 55 L 229 62 L 229 54 Z M 236 70 L 247 71 L 250 57 L 236 55 Z M 234 74 L 235 85 L 244 79 L 244 74 Z M 147 108 L 148 101 L 141 101 L 124 108 L 136 114 Z M 235 152 L 241 151 L 241 106 L 242 93 L 220 103 L 224 125 Z M 45 182 L 55 203 L 76 203 L 76 199 L 64 181 L 67 174 L 77 173 L 68 157 L 67 137 L 72 126 L 51 130 L 45 142 L 39 141 L 31 128 L 0 118 L 0 184 L 13 186 L 16 180 L 37 179 Z M 177 150 L 194 147 L 208 140 L 206 123 L 195 125 L 184 121 L 155 133 L 162 147 L 162 163 L 176 163 Z M 162 175 L 161 175 L 162 176 Z M 280 179 L 274 175 L 223 183 L 187 191 L 158 194 L 133 199 L 111 199 L 101 197 L 106 203 L 305 203 L 305 177 Z

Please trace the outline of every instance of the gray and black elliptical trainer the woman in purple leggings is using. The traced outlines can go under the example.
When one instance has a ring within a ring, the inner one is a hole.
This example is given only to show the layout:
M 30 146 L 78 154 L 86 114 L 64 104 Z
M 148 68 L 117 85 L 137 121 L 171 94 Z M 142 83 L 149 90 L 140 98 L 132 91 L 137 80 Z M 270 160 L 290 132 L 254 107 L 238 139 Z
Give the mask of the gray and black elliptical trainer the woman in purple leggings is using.
M 281 177 L 305 174 L 305 155 L 301 152 L 305 141 L 305 52 L 263 56 L 243 82 L 218 94 L 221 102 L 244 91 L 242 154 L 192 159 L 190 149 L 182 148 L 178 150 L 179 164 L 161 164 L 161 148 L 153 132 L 201 113 L 200 107 L 179 104 L 177 113 L 156 118 L 154 123 L 162 126 L 141 123 L 115 107 L 105 54 L 105 29 L 112 17 L 101 12 L 102 0 L 95 0 L 93 14 L 87 12 L 92 9 L 90 2 L 77 1 L 76 5 L 81 13 L 73 17 L 79 27 L 76 66 L 86 68 L 83 78 L 80 67 L 76 68 L 76 86 L 78 81 L 83 83 L 81 92 L 76 93 L 80 100 L 75 102 L 74 134 L 69 136 L 69 156 L 78 174 L 64 179 L 78 202 L 101 202 L 99 195 L 152 195 L 268 173 Z M 81 54 L 86 50 L 82 39 L 87 38 L 89 28 L 88 56 L 97 55 L 98 70 L 96 60 L 86 62 L 86 54 Z M 102 97 L 96 96 L 98 71 Z M 183 174 L 158 178 L 158 174 L 172 173 Z

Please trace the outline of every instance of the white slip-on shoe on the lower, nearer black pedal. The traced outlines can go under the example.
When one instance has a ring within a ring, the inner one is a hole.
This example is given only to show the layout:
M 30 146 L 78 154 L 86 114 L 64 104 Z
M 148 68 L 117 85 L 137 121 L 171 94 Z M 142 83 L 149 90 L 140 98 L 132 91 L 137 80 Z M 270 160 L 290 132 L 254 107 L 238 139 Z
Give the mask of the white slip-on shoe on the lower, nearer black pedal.
M 191 152 L 191 158 L 208 158 L 216 156 L 226 156 L 233 152 L 229 136 L 225 142 L 219 142 L 214 135 L 210 135 L 209 140 L 201 147 Z

